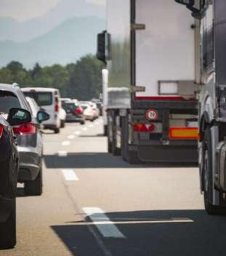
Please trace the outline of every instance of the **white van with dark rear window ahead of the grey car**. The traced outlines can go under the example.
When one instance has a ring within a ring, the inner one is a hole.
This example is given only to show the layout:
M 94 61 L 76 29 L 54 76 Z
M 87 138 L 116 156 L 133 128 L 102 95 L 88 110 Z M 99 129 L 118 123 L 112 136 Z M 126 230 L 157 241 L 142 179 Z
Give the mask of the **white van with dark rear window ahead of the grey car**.
M 60 92 L 53 88 L 29 87 L 23 88 L 26 97 L 32 97 L 41 109 L 49 113 L 49 120 L 42 124 L 45 129 L 52 129 L 55 133 L 60 132 Z

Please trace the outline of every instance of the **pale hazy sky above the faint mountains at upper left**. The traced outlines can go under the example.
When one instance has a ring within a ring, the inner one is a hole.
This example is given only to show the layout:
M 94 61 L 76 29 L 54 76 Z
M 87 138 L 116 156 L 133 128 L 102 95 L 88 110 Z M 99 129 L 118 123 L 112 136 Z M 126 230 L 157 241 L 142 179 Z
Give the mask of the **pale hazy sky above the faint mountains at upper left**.
M 0 0 L 0 16 L 15 20 L 29 20 L 44 15 L 60 0 Z M 105 4 L 105 0 L 84 0 L 94 4 Z

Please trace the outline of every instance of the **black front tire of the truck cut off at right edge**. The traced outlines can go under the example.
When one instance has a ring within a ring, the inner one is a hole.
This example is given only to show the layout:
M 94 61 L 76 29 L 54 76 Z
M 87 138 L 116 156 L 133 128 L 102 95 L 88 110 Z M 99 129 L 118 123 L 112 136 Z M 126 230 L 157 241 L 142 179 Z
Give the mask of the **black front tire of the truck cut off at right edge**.
M 211 149 L 211 130 L 207 127 L 203 139 L 203 195 L 206 212 L 209 215 L 225 215 L 226 208 L 213 205 L 213 193 L 212 193 L 212 149 Z

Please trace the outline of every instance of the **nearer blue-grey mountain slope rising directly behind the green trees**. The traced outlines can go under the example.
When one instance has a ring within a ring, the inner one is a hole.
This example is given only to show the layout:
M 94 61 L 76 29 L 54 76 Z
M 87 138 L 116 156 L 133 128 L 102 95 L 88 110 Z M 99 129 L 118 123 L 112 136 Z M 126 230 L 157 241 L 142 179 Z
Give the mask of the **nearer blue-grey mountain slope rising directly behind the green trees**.
M 100 17 L 72 17 L 31 40 L 0 41 L 0 66 L 12 60 L 20 61 L 25 68 L 37 62 L 41 66 L 76 62 L 96 52 L 97 33 L 104 28 L 105 20 Z

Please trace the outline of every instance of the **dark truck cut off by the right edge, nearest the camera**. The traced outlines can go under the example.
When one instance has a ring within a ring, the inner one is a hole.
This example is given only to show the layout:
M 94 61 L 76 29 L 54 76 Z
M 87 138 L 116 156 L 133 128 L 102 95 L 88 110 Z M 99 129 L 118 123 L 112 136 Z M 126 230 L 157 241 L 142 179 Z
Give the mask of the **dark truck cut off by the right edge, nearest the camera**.
M 226 213 L 226 1 L 176 0 L 198 30 L 198 164 L 206 211 Z

